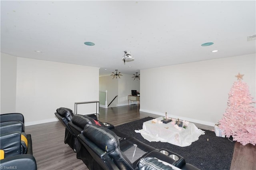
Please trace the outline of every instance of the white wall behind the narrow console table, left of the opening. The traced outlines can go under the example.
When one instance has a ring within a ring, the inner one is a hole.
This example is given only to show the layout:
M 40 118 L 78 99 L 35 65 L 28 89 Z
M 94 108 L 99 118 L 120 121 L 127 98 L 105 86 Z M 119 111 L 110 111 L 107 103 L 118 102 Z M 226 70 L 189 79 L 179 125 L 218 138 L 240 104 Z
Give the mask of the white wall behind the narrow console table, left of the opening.
M 1 63 L 5 64 L 3 59 Z M 74 111 L 75 102 L 99 99 L 98 67 L 21 57 L 16 64 L 16 112 L 23 113 L 26 126 L 56 121 L 54 112 L 59 107 Z M 78 107 L 78 114 L 96 112 L 94 105 Z

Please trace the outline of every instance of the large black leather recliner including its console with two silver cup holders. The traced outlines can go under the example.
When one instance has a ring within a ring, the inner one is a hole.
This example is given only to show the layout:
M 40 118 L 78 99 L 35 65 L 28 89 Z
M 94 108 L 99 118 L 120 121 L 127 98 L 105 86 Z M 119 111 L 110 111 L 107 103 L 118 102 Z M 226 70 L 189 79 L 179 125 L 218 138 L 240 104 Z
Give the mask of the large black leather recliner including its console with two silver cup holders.
M 133 137 L 120 138 L 111 129 L 98 125 L 86 125 L 82 134 L 78 135 L 78 139 L 102 169 L 140 169 L 141 167 L 137 166 L 141 158 L 156 157 L 176 169 L 198 170 L 198 168 L 186 164 L 185 159 L 174 152 L 164 150 L 168 155 L 162 154 L 163 149 L 158 150 Z M 177 156 L 178 160 L 170 158 L 170 154 Z

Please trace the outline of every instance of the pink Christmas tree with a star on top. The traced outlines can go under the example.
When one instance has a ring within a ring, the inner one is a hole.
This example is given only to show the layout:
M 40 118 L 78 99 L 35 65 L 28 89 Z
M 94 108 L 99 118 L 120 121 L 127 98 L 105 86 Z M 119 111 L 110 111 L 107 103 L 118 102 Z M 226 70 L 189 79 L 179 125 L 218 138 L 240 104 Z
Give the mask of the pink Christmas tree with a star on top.
M 219 121 L 219 128 L 224 130 L 227 137 L 232 136 L 233 140 L 242 145 L 256 144 L 256 108 L 252 106 L 253 97 L 249 93 L 249 87 L 242 82 L 242 77 L 238 73 L 237 81 L 228 93 L 228 107 Z

